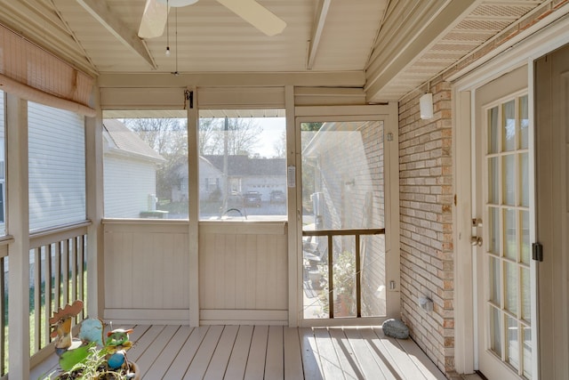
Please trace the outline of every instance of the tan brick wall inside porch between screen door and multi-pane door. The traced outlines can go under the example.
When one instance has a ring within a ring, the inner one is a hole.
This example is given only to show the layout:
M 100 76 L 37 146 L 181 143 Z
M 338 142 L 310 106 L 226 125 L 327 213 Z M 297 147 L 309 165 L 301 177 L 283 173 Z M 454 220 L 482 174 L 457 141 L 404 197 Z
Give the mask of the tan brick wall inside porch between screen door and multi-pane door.
M 413 339 L 438 368 L 454 369 L 451 85 L 434 81 L 434 117 L 421 120 L 422 92 L 399 101 L 401 310 Z M 433 300 L 433 311 L 419 306 Z

